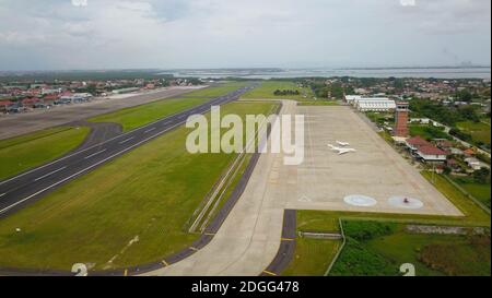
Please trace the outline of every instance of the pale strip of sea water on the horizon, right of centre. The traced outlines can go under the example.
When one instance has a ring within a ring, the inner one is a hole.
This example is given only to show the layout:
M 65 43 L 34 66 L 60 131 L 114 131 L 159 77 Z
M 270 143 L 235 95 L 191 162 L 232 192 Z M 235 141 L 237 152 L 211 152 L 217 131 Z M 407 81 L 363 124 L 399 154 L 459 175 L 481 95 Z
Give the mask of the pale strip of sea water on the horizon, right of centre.
M 280 79 L 312 76 L 354 78 L 435 78 L 435 79 L 491 79 L 491 68 L 372 68 L 372 69 L 200 69 L 167 70 L 175 76 L 201 79 Z

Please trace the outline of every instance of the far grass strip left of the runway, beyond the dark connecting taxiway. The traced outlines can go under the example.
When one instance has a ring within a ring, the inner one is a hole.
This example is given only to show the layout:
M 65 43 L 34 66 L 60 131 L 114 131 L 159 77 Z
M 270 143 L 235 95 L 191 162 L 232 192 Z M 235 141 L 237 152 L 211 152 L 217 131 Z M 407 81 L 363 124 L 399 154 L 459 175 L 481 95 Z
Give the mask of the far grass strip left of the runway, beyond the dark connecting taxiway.
M 96 116 L 89 119 L 89 121 L 119 123 L 121 124 L 124 131 L 130 131 L 132 129 L 156 121 L 161 118 L 201 105 L 209 100 L 210 98 L 206 97 L 164 99 Z

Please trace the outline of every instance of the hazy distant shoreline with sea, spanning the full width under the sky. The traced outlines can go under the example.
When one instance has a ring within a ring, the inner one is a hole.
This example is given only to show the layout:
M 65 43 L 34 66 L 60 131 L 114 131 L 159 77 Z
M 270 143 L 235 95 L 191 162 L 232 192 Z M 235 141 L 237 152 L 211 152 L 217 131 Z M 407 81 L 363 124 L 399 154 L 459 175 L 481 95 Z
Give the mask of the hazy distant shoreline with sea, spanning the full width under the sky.
M 294 79 L 294 78 L 420 78 L 420 79 L 491 79 L 491 67 L 458 65 L 458 67 L 358 67 L 358 68 L 220 68 L 220 69 L 121 69 L 121 70 L 59 70 L 59 71 L 0 71 L 0 79 L 51 79 L 72 76 L 90 79 L 92 76 L 122 75 L 125 78 L 159 78 L 174 75 L 175 78 L 200 79 Z

